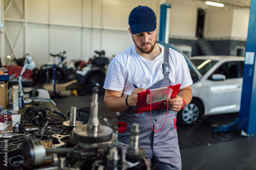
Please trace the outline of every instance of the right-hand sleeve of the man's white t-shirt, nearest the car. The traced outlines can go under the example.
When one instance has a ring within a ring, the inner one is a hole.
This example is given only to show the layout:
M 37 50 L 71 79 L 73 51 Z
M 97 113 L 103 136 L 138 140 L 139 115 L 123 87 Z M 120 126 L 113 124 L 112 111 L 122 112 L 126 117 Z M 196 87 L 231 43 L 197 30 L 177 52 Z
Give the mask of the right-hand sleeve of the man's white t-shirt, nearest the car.
M 175 84 L 181 84 L 180 88 L 185 88 L 193 84 L 186 59 L 180 53 L 177 57 L 177 65 Z

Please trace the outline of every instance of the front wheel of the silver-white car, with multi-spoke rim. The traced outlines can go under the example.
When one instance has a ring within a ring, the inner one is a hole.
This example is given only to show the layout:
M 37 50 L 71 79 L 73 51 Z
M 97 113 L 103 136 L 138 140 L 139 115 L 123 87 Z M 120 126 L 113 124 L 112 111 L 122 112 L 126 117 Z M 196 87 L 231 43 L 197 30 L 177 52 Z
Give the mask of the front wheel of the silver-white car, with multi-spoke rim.
M 198 100 L 192 99 L 191 102 L 186 105 L 185 109 L 178 111 L 177 122 L 180 125 L 190 126 L 199 121 L 202 114 L 202 103 Z

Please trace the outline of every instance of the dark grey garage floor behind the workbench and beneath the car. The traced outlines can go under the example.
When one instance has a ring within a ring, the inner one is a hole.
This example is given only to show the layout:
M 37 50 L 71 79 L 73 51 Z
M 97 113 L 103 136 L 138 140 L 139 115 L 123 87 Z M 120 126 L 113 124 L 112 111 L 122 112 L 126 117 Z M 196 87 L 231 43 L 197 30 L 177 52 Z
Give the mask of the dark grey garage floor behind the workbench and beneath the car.
M 99 96 L 99 116 L 107 117 L 114 126 L 115 112 L 108 111 L 105 107 L 103 95 Z M 64 114 L 71 106 L 90 107 L 90 95 L 70 96 L 54 99 L 58 109 Z M 190 127 L 177 125 L 182 168 L 207 169 L 207 170 L 242 170 L 256 169 L 256 138 L 241 137 L 240 132 L 229 136 L 228 133 L 214 134 L 211 132 L 211 124 L 226 124 L 232 122 L 239 114 L 223 114 L 209 116 L 207 120 L 198 126 L 191 135 L 187 136 L 186 131 Z M 103 121 L 100 122 L 105 125 Z M 228 137 L 227 137 L 228 136 Z M 228 140 L 225 140 L 226 139 Z M 224 139 L 224 140 L 223 140 Z M 222 142 L 223 144 L 221 144 Z

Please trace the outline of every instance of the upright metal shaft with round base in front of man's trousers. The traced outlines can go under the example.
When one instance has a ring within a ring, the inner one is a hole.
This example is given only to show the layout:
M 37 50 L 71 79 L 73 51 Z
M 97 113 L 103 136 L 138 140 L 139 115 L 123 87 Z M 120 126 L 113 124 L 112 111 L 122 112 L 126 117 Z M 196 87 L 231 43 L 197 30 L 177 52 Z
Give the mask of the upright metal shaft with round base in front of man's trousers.
M 126 153 L 126 160 L 133 163 L 140 161 L 144 156 L 146 156 L 146 149 L 138 146 L 139 135 L 140 135 L 139 125 L 137 123 L 134 123 L 131 128 L 130 143 Z

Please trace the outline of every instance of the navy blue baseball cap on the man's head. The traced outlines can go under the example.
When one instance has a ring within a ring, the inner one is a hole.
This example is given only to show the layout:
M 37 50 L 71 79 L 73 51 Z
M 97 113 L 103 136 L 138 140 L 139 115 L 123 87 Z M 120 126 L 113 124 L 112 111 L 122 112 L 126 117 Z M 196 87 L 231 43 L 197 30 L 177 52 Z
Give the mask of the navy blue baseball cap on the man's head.
M 132 34 L 155 31 L 155 12 L 147 6 L 139 5 L 138 7 L 133 8 L 131 11 L 128 24 L 130 25 Z

